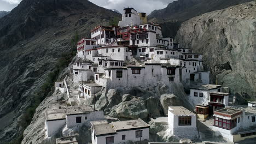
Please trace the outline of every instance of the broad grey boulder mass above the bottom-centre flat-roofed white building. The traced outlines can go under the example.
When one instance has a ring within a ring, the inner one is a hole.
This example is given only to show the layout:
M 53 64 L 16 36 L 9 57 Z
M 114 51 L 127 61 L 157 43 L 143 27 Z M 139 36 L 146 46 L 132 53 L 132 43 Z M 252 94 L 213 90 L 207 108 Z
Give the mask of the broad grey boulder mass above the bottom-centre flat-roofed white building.
M 109 116 L 117 118 L 148 118 L 149 116 L 161 116 L 159 99 L 150 97 L 148 99 L 133 97 L 129 101 L 123 101 L 112 108 Z

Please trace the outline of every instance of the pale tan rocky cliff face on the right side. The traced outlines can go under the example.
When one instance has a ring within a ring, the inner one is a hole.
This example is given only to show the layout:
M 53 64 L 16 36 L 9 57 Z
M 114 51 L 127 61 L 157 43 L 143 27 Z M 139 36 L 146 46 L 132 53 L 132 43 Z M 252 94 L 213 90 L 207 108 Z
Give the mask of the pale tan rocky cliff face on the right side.
M 256 98 L 256 2 L 213 11 L 184 22 L 176 40 L 203 53 L 211 81 Z M 239 99 L 239 97 L 238 97 Z

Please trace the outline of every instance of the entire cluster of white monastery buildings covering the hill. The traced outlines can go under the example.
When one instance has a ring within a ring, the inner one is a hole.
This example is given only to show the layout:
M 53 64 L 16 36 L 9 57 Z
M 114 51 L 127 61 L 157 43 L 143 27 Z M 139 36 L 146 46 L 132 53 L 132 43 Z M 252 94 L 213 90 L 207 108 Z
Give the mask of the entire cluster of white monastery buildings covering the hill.
M 246 130 L 255 126 L 256 103 L 243 108 L 228 107 L 230 95 L 221 85 L 210 84 L 210 72 L 203 70 L 202 54 L 180 47 L 173 38 L 163 37 L 161 26 L 148 23 L 145 13 L 125 8 L 118 27 L 92 29 L 91 38 L 78 42 L 77 59 L 71 70 L 73 82 L 79 85 L 77 105 L 80 100 L 110 88 L 144 88 L 154 83 L 171 87 L 173 83 L 182 83 L 190 89 L 188 100 L 195 113 L 182 106 L 168 107 L 170 135 L 197 139 L 197 119 L 214 117 L 210 129 L 215 135 L 231 141 L 256 136 L 255 129 Z M 55 87 L 69 93 L 66 80 L 56 82 Z M 149 125 L 142 119 L 108 123 L 103 111 L 73 106 L 74 100 L 68 101 L 72 106 L 67 109 L 45 111 L 49 137 L 59 129 L 90 124 L 93 144 L 149 140 Z

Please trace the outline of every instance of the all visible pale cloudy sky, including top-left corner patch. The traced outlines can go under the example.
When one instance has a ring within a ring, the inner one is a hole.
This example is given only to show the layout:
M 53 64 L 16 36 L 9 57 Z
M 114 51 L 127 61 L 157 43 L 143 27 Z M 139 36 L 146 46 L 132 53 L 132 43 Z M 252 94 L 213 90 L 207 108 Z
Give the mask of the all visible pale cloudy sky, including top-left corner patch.
M 10 11 L 22 0 L 0 0 L 0 11 Z M 42 0 L 43 1 L 43 0 Z M 138 12 L 150 14 L 155 9 L 163 9 L 174 0 L 89 0 L 100 7 L 117 9 L 123 13 L 124 7 L 133 7 Z

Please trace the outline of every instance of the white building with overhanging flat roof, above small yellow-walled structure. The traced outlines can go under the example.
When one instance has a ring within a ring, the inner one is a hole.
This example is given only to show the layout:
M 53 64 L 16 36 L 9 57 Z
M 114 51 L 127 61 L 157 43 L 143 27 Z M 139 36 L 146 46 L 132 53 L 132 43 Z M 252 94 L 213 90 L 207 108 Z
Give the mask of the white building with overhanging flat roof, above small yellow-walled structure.
M 208 104 L 210 101 L 210 92 L 221 92 L 222 85 L 201 85 L 190 87 L 190 102 L 196 104 Z

